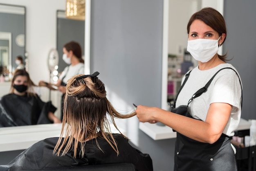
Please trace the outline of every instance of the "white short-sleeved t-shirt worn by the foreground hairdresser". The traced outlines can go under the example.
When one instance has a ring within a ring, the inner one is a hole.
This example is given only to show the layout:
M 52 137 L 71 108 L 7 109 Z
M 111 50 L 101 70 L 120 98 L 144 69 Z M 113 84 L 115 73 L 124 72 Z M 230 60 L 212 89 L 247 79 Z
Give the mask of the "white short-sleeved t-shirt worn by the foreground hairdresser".
M 196 91 L 204 87 L 218 70 L 226 67 L 236 70 L 231 64 L 220 64 L 209 70 L 199 70 L 198 67 L 194 68 L 177 98 L 176 107 L 187 105 L 189 99 Z M 205 121 L 211 103 L 228 103 L 232 105 L 229 121 L 223 131 L 227 136 L 234 135 L 234 130 L 238 127 L 241 116 L 242 90 L 238 75 L 236 75 L 237 71 L 234 72 L 234 70 L 221 70 L 209 85 L 208 90 L 201 96 L 193 99 L 189 104 L 191 116 L 202 121 Z

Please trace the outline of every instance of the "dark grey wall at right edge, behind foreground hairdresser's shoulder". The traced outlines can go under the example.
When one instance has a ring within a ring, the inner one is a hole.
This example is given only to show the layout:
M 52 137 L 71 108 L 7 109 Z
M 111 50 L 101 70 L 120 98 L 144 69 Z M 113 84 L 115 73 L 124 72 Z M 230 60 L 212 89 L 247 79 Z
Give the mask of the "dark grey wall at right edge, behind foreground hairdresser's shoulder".
M 242 118 L 256 119 L 256 1 L 225 0 L 227 39 L 223 52 L 234 57 L 229 63 L 238 70 L 243 83 Z

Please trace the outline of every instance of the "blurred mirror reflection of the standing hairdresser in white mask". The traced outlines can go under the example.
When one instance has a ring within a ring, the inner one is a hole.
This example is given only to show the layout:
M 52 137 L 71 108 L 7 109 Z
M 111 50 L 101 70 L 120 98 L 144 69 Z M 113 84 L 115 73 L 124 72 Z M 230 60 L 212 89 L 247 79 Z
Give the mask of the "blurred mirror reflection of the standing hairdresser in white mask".
M 82 49 L 79 43 L 77 42 L 68 42 L 63 46 L 63 60 L 69 64 L 62 74 L 60 75 L 56 84 L 53 84 L 58 87 L 58 90 L 63 93 L 61 98 L 61 108 L 63 109 L 63 98 L 65 95 L 65 85 L 67 80 L 70 79 L 74 75 L 83 74 L 84 73 L 84 60 L 82 59 Z M 40 86 L 45 86 L 51 90 L 56 90 L 52 87 L 51 83 L 46 83 L 44 81 L 39 82 Z M 61 110 L 62 111 L 62 110 Z M 61 114 L 61 120 L 63 117 L 63 111 Z

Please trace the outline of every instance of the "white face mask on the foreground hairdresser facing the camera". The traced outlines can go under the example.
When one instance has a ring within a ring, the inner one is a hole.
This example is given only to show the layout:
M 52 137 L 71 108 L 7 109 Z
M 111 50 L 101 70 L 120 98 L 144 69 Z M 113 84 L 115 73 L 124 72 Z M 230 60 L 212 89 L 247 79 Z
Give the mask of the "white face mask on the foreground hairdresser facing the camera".
M 188 40 L 187 51 L 195 58 L 197 61 L 208 62 L 219 50 L 220 37 L 215 39 L 194 39 Z

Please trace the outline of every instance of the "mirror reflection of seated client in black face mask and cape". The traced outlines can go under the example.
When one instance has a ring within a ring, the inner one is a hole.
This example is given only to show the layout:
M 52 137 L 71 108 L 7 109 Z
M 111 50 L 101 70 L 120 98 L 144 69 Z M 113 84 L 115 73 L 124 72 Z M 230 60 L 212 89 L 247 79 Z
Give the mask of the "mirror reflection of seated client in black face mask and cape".
M 0 127 L 61 123 L 54 116 L 56 107 L 41 101 L 33 85 L 25 70 L 14 72 L 11 92 L 0 100 Z

